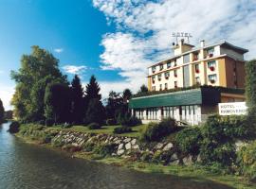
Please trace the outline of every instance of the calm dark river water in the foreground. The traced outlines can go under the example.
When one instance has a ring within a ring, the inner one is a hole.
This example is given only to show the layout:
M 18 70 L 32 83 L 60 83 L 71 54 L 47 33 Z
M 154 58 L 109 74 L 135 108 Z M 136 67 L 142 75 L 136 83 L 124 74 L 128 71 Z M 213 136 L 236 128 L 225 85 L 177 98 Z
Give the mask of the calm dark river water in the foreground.
M 27 145 L 0 126 L 0 188 L 228 188 L 160 174 L 71 159 L 60 151 Z

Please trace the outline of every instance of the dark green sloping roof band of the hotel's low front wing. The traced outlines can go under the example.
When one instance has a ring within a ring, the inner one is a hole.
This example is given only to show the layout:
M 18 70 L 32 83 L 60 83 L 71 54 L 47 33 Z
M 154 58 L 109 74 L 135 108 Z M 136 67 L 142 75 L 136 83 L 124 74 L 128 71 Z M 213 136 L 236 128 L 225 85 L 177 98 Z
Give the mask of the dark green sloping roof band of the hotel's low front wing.
M 216 105 L 220 102 L 220 91 L 214 88 L 197 88 L 168 94 L 134 97 L 129 102 L 130 109 L 184 105 Z

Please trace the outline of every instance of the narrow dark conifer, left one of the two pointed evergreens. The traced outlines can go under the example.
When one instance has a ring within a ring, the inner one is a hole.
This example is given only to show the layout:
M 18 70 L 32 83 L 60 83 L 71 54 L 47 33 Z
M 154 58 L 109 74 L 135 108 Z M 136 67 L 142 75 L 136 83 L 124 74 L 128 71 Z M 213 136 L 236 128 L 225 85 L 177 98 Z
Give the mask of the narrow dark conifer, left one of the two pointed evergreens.
M 86 104 L 83 97 L 83 89 L 80 77 L 75 75 L 71 82 L 72 93 L 72 122 L 81 124 L 83 121 L 84 113 L 86 112 Z

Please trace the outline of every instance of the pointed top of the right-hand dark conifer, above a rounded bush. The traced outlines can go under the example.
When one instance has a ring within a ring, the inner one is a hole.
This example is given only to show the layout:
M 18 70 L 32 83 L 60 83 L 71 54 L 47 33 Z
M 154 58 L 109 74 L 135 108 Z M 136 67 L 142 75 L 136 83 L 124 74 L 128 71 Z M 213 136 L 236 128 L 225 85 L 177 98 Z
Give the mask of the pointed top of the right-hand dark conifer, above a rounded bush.
M 101 100 L 101 94 L 100 94 L 101 88 L 96 81 L 96 77 L 92 76 L 90 78 L 89 84 L 87 84 L 86 89 L 85 89 L 85 96 L 88 99 L 94 99 L 97 98 Z

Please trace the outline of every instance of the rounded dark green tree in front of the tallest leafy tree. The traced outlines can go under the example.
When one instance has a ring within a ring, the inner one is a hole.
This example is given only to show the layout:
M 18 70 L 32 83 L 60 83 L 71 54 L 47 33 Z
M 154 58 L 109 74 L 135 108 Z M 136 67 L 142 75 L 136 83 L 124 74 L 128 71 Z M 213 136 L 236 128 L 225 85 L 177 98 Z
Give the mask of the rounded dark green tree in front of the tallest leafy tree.
M 68 85 L 62 83 L 48 84 L 45 104 L 46 120 L 53 120 L 55 124 L 70 121 L 71 93 Z

